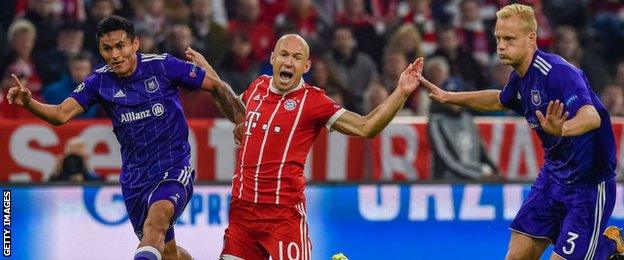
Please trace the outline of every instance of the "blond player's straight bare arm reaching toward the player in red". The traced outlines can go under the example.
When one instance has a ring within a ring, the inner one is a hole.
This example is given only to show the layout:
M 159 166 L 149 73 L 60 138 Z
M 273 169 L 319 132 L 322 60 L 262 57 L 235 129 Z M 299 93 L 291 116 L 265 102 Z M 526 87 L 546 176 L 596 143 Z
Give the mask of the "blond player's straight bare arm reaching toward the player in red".
M 501 111 L 505 107 L 499 100 L 500 90 L 480 90 L 466 92 L 450 92 L 441 89 L 429 82 L 425 77 L 420 77 L 420 83 L 429 91 L 429 98 L 442 104 L 453 104 L 468 107 L 478 111 Z

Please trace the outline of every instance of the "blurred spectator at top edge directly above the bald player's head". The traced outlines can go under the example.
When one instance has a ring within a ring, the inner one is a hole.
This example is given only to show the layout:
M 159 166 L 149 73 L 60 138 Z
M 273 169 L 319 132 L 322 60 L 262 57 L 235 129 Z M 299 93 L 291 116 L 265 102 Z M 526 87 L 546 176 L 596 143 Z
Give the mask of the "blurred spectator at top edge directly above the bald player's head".
M 321 37 L 327 30 L 327 24 L 320 18 L 312 0 L 289 0 L 287 12 L 276 18 L 275 25 L 279 28 L 292 28 L 306 39 L 311 49 L 322 46 Z

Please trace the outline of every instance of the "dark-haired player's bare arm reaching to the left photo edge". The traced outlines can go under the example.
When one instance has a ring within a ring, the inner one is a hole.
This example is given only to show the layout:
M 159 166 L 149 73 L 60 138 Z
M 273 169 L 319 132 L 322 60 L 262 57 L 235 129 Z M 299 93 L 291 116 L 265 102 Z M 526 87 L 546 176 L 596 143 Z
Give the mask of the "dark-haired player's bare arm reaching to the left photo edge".
M 17 76 L 11 74 L 11 77 L 13 77 L 15 85 L 9 89 L 7 94 L 9 104 L 24 107 L 50 124 L 62 125 L 84 112 L 84 108 L 72 97 L 65 99 L 60 105 L 48 105 L 34 100 L 30 90 L 22 85 Z

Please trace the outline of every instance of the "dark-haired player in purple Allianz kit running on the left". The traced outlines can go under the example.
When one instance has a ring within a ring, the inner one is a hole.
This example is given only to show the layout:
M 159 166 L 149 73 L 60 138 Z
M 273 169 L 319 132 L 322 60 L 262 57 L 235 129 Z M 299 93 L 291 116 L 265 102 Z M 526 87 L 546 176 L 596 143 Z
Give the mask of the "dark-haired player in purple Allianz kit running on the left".
M 198 66 L 168 54 L 138 53 L 134 25 L 122 17 L 100 22 L 97 38 L 106 64 L 63 103 L 48 105 L 32 99 L 15 76 L 7 100 L 54 125 L 99 103 L 121 144 L 119 181 L 140 240 L 134 259 L 191 259 L 176 245 L 173 229 L 191 198 L 195 177 L 178 87 L 210 92 L 221 112 L 235 123 L 243 122 L 245 109 L 209 64 Z

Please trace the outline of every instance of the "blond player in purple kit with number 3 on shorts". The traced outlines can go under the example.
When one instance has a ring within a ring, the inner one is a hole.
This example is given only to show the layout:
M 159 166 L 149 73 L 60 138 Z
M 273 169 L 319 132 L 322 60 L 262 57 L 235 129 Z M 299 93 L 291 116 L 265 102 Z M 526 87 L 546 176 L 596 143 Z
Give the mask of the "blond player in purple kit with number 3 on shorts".
M 545 163 L 511 223 L 506 258 L 538 259 L 551 243 L 550 259 L 607 259 L 622 253 L 621 232 L 606 227 L 616 192 L 607 110 L 581 70 L 537 48 L 531 7 L 508 5 L 496 16 L 498 56 L 514 69 L 502 91 L 448 92 L 424 78 L 421 82 L 440 103 L 511 109 L 542 141 Z

